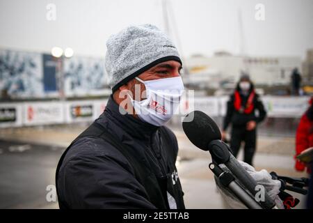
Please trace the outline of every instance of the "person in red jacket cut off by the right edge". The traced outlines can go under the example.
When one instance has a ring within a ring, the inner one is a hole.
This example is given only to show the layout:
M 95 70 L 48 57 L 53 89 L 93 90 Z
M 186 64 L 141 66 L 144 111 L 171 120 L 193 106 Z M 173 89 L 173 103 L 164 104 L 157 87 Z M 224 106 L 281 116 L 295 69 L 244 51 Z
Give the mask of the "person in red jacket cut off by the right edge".
M 310 107 L 300 119 L 296 132 L 296 155 L 299 155 L 307 148 L 313 147 L 313 97 L 310 100 Z M 304 171 L 307 167 L 303 162 L 296 160 L 297 171 Z M 311 167 L 307 167 L 307 172 L 311 172 Z

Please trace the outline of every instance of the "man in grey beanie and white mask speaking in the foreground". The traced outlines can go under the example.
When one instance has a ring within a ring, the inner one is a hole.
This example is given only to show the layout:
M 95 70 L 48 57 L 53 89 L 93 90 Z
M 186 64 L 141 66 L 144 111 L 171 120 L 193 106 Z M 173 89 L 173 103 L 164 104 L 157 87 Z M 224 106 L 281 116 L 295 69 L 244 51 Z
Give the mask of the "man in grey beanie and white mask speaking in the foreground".
M 185 208 L 177 139 L 164 124 L 184 91 L 182 61 L 156 26 L 129 26 L 106 43 L 113 91 L 56 170 L 60 208 Z

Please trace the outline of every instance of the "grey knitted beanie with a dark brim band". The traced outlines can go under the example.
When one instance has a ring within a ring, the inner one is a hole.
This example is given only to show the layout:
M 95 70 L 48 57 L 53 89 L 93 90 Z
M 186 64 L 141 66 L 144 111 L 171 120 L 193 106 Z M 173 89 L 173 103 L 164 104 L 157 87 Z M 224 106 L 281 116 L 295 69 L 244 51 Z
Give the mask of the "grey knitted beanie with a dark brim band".
M 172 41 L 157 26 L 129 26 L 106 42 L 106 72 L 114 92 L 129 80 L 164 61 L 178 61 Z

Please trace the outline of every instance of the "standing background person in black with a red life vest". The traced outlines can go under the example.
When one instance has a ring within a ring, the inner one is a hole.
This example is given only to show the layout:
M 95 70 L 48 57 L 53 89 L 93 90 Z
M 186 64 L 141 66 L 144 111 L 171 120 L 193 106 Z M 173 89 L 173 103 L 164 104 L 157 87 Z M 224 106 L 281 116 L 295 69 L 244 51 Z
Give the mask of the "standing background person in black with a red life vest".
M 255 113 L 258 113 L 256 115 Z M 230 148 L 238 155 L 244 142 L 244 162 L 252 165 L 257 143 L 257 124 L 266 117 L 264 105 L 255 93 L 255 88 L 246 74 L 241 75 L 234 93 L 227 102 L 227 112 L 223 123 L 222 139 L 225 140 L 228 125 L 232 124 Z

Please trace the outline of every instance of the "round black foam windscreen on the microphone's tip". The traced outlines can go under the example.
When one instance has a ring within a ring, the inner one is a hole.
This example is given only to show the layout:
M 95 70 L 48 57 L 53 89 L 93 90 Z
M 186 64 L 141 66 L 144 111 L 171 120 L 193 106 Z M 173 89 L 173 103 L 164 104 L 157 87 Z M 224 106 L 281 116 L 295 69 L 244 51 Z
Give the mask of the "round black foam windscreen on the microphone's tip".
M 182 127 L 188 139 L 198 148 L 207 151 L 212 140 L 220 139 L 220 129 L 204 112 L 194 111 L 187 114 Z

